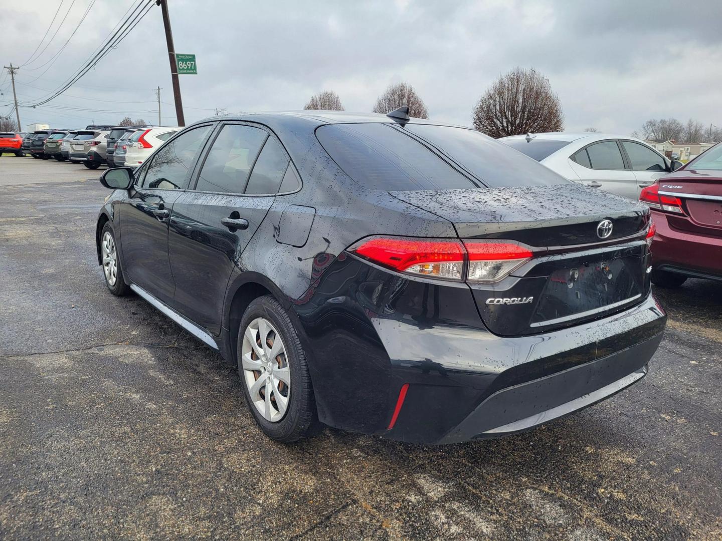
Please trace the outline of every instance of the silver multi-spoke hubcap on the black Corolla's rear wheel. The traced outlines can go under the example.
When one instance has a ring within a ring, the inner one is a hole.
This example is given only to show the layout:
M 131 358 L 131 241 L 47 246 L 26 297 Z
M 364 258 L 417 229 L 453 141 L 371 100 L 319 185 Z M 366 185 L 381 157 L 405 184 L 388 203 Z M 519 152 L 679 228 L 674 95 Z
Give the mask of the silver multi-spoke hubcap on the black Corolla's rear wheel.
M 276 327 L 263 317 L 251 321 L 241 346 L 243 381 L 251 402 L 266 421 L 281 421 L 291 397 L 291 371 Z

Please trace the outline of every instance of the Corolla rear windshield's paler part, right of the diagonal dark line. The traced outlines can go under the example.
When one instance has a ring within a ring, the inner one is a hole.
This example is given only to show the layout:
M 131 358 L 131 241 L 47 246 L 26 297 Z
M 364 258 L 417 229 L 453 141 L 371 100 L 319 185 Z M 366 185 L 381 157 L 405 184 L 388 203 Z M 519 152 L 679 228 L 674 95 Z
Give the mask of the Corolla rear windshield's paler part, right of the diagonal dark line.
M 509 146 L 476 130 L 425 124 L 407 124 L 405 129 L 444 151 L 490 188 L 569 182 L 547 167 L 520 156 Z

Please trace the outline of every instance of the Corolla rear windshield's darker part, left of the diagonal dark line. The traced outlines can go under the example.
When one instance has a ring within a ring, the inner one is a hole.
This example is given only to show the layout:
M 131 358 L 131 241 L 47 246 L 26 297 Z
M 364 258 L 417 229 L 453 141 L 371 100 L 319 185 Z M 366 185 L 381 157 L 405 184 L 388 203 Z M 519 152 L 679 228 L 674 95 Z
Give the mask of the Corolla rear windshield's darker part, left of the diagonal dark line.
M 355 182 L 370 190 L 476 188 L 422 144 L 387 124 L 327 124 L 323 148 Z

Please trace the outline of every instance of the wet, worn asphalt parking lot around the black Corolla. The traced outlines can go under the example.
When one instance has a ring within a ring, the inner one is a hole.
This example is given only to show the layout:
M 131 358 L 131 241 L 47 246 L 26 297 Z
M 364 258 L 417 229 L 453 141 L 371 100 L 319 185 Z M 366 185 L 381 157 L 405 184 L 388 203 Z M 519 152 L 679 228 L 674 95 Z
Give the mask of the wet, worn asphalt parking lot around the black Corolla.
M 0 537 L 722 537 L 722 285 L 656 290 L 639 384 L 534 431 L 266 439 L 238 374 L 95 258 L 80 164 L 0 158 Z

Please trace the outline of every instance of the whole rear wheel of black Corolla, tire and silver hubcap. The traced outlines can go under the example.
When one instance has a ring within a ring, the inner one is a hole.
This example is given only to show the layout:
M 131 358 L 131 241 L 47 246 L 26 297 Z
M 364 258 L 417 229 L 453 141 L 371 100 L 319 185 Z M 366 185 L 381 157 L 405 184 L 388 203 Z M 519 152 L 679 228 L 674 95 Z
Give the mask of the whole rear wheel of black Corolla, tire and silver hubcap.
M 264 332 L 266 348 L 261 341 Z M 271 346 L 277 343 L 279 335 L 283 351 L 273 359 L 268 359 L 266 353 L 273 353 Z M 254 337 L 253 346 L 251 336 Z M 236 348 L 238 374 L 245 401 L 266 436 L 290 443 L 316 434 L 322 425 L 316 415 L 316 399 L 313 397 L 306 356 L 288 313 L 273 296 L 258 297 L 245 309 L 240 321 Z M 258 356 L 256 351 L 262 351 L 264 356 Z M 256 359 L 253 359 L 254 356 Z M 264 363 L 264 359 L 267 362 Z M 269 374 L 270 379 L 266 379 L 266 374 Z M 289 381 L 284 382 L 284 377 L 288 377 Z M 266 383 L 259 384 L 254 392 L 254 383 L 262 379 L 266 380 Z M 265 400 L 266 392 L 269 400 Z M 283 398 L 286 399 L 284 411 Z M 261 413 L 259 408 L 266 413 Z M 267 418 L 268 412 L 270 419 Z

